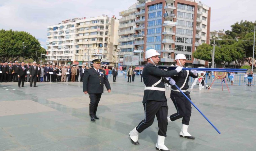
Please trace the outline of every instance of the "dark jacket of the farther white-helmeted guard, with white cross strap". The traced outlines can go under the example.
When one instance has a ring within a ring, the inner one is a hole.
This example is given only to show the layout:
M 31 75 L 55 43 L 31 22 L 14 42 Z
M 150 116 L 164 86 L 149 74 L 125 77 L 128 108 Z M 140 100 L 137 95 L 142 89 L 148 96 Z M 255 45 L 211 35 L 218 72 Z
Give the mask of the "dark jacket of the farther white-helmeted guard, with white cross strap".
M 174 75 L 174 76 L 171 76 L 171 78 L 175 81 L 176 85 L 181 88 L 182 85 L 184 84 L 185 80 L 186 80 L 186 77 L 187 77 L 187 70 L 181 70 L 178 75 Z M 192 78 L 197 78 L 198 76 L 197 75 L 194 75 L 192 72 L 190 72 L 189 70 L 189 77 L 192 77 Z M 189 81 L 189 77 L 187 79 L 187 82 L 185 84 L 185 86 L 182 88 L 182 90 L 187 90 L 189 88 L 189 85 L 188 85 L 188 81 Z M 174 89 L 174 90 L 177 90 L 177 88 L 175 86 L 172 86 L 171 89 Z M 185 94 L 190 94 L 190 92 L 184 92 Z M 177 92 L 177 91 L 171 91 L 171 95 L 170 96 L 183 96 L 183 94 L 181 92 Z

